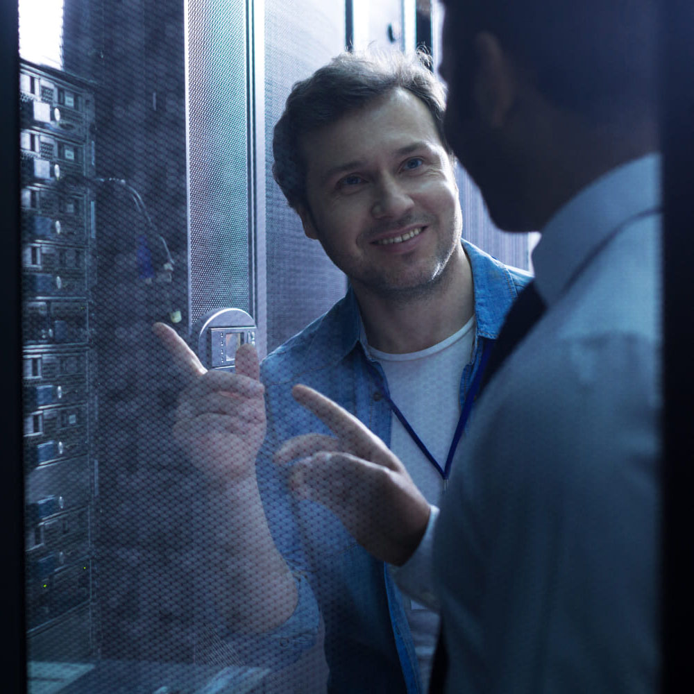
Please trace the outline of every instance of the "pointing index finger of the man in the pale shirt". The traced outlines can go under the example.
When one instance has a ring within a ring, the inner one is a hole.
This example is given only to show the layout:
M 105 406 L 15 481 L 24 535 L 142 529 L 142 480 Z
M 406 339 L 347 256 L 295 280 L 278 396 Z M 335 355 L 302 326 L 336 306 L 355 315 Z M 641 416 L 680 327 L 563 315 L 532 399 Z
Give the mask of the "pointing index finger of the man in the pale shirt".
M 303 384 L 294 386 L 291 394 L 299 405 L 313 412 L 339 439 L 344 441 L 346 448 L 355 455 L 388 467 L 393 466 L 393 455 L 385 443 L 344 407 L 340 407 L 322 393 Z

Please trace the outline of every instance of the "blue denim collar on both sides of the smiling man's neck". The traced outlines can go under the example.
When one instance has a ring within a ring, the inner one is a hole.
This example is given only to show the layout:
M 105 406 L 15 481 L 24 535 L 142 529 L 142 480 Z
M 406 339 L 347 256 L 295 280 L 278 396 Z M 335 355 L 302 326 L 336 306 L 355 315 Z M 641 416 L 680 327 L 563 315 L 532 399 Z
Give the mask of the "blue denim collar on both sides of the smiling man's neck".
M 504 316 L 516 300 L 516 285 L 502 262 L 464 239 L 462 244 L 473 273 L 477 336 L 496 339 Z M 325 355 L 330 361 L 344 359 L 359 342 L 363 329 L 359 304 L 352 287 L 348 288 L 335 309 L 333 329 L 337 331 L 339 339 L 330 341 Z

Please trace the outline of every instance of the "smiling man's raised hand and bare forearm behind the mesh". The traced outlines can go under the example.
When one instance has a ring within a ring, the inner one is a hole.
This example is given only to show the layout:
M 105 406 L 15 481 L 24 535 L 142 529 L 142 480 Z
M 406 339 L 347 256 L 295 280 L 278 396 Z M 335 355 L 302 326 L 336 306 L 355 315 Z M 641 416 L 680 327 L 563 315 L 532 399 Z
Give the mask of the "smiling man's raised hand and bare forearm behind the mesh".
M 175 330 L 155 323 L 153 331 L 188 381 L 176 409 L 174 436 L 211 482 L 207 587 L 230 631 L 272 630 L 294 611 L 297 592 L 273 543 L 255 477 L 265 436 L 255 348 L 239 347 L 236 373 L 208 371 Z

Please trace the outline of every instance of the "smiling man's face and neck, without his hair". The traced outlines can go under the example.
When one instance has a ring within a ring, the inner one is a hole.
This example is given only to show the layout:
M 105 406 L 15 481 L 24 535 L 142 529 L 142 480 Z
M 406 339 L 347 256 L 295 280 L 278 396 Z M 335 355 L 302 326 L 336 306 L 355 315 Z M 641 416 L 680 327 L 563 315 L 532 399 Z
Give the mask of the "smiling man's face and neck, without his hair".
M 473 287 L 458 191 L 423 101 L 396 87 L 300 142 L 298 213 L 348 276 L 369 345 L 412 352 L 462 328 Z

